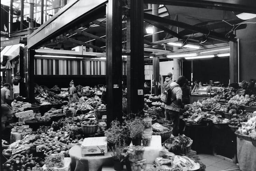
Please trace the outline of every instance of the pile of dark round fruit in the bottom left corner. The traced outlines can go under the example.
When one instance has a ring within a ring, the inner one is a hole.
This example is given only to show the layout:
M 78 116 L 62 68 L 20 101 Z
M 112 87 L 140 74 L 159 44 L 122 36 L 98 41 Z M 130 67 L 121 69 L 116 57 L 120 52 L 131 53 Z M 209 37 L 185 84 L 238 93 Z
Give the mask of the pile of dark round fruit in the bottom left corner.
M 3 165 L 3 171 L 31 171 L 33 167 L 42 167 L 43 165 L 44 161 L 40 157 L 21 153 L 14 156 L 10 161 L 6 161 Z

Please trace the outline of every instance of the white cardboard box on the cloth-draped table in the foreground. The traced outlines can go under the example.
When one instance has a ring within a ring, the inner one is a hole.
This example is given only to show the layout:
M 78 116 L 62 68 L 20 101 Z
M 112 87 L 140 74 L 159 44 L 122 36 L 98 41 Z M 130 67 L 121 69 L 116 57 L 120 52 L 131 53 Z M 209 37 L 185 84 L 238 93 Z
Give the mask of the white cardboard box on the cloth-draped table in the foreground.
M 85 138 L 81 145 L 82 156 L 87 154 L 104 154 L 108 152 L 106 137 Z

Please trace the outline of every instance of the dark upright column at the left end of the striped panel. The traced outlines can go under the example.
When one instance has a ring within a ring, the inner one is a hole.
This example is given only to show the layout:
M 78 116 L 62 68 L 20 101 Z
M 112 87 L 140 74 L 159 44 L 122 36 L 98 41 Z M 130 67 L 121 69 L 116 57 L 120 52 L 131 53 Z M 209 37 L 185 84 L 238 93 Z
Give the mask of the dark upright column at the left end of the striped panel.
M 28 49 L 28 98 L 30 103 L 35 102 L 34 92 L 34 49 Z

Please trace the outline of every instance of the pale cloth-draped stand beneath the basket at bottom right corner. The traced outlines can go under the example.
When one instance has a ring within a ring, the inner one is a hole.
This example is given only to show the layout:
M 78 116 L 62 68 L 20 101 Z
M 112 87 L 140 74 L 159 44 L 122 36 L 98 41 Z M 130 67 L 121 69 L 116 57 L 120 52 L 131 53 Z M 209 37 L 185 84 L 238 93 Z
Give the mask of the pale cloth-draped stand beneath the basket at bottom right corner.
M 241 171 L 256 171 L 256 146 L 237 138 L 237 158 Z

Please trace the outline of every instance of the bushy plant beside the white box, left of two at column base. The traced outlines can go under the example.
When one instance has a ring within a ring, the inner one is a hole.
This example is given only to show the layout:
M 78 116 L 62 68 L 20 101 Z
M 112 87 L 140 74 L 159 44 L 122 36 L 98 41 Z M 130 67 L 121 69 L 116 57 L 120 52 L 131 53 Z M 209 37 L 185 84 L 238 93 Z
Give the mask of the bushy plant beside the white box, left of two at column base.
M 129 142 L 127 142 L 127 131 L 118 120 L 113 120 L 110 128 L 104 133 L 109 149 L 112 149 L 112 147 L 115 148 L 115 146 L 130 145 Z

